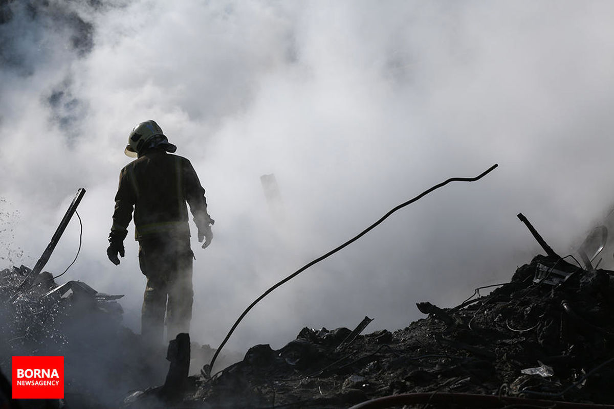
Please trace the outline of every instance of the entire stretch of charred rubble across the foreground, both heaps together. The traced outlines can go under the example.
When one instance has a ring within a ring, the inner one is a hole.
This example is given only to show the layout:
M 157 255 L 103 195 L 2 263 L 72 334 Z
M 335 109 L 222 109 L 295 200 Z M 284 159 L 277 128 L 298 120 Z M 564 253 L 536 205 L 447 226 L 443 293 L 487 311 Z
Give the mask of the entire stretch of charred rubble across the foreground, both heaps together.
M 142 348 L 122 326 L 121 296 L 25 266 L 3 270 L 4 373 L 11 356 L 65 357 L 65 399 L 12 407 L 614 408 L 614 272 L 595 262 L 607 227 L 589 234 L 578 262 L 519 218 L 545 255 L 508 283 L 453 308 L 419 302 L 426 318 L 394 332 L 363 335 L 366 316 L 353 331 L 305 327 L 283 348 L 255 345 L 212 375 L 203 363 L 215 351 L 188 334 Z

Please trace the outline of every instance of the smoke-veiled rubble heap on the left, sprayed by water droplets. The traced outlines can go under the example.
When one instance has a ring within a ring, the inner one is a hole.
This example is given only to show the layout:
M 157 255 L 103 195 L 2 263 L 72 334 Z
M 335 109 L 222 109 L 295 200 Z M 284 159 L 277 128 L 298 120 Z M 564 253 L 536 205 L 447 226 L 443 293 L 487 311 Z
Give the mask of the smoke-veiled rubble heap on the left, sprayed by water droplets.
M 71 407 L 111 407 L 130 389 L 158 383 L 165 365 L 152 364 L 122 325 L 120 297 L 82 281 L 58 285 L 26 266 L 0 271 L 0 368 L 9 376 L 12 356 L 64 356 Z

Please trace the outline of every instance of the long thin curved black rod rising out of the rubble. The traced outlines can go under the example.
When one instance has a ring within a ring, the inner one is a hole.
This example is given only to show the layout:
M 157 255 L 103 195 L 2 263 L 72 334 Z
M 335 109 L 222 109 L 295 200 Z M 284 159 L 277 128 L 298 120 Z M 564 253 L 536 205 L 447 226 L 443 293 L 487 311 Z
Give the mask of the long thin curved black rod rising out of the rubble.
M 413 202 L 418 201 L 422 197 L 424 197 L 427 194 L 431 193 L 433 190 L 441 188 L 441 186 L 445 186 L 445 185 L 447 185 L 450 182 L 475 182 L 476 180 L 483 178 L 486 174 L 488 174 L 489 172 L 494 170 L 495 167 L 497 167 L 497 166 L 499 166 L 499 165 L 495 163 L 494 165 L 489 167 L 487 170 L 484 170 L 484 172 L 482 172 L 480 175 L 478 175 L 476 177 L 473 177 L 473 178 L 459 178 L 459 177 L 449 178 L 445 182 L 441 182 L 438 185 L 435 185 L 432 188 L 425 190 L 424 192 L 422 192 L 418 196 L 414 197 L 413 199 L 410 199 L 409 201 L 406 201 L 405 203 L 402 203 L 402 204 L 398 205 L 397 207 L 392 208 L 392 210 L 390 210 L 388 213 L 386 213 L 384 216 L 382 216 L 378 221 L 376 221 L 375 223 L 371 224 L 371 226 L 367 227 L 366 229 L 364 229 L 362 232 L 360 232 L 356 236 L 352 237 L 352 239 L 349 239 L 347 242 L 343 243 L 342 245 L 340 245 L 337 248 L 334 248 L 333 250 L 328 251 L 328 253 L 318 257 L 317 259 L 315 259 L 315 260 L 313 260 L 311 262 L 308 262 L 307 264 L 305 264 L 305 266 L 301 267 L 297 271 L 295 271 L 292 274 L 290 274 L 288 277 L 286 277 L 283 280 L 279 281 L 279 283 L 277 283 L 276 285 L 274 285 L 271 288 L 269 288 L 268 290 L 266 290 L 262 294 L 262 296 L 260 296 L 257 299 L 255 299 L 254 302 L 252 302 L 252 304 L 250 304 L 249 307 L 247 307 L 245 309 L 245 311 L 241 314 L 241 316 L 239 316 L 239 318 L 235 321 L 235 324 L 233 324 L 233 326 L 231 327 L 230 331 L 228 331 L 228 334 L 226 335 L 226 337 L 224 338 L 224 340 L 222 341 L 220 346 L 217 348 L 216 353 L 213 355 L 213 358 L 211 359 L 211 363 L 209 364 L 209 371 L 208 372 L 209 373 L 211 372 L 211 369 L 213 368 L 213 364 L 216 362 L 217 355 L 220 353 L 220 351 L 222 350 L 223 346 L 226 345 L 226 343 L 228 342 L 228 338 L 230 338 L 230 335 L 232 335 L 232 333 L 235 332 L 236 327 L 239 325 L 239 323 L 241 322 L 243 317 L 247 315 L 249 310 L 251 310 L 254 307 L 254 305 L 258 304 L 258 302 L 260 300 L 262 300 L 264 297 L 268 296 L 268 294 L 270 294 L 274 289 L 278 288 L 279 286 L 281 286 L 282 284 L 286 283 L 287 281 L 292 280 L 292 278 L 296 277 L 297 275 L 299 275 L 300 273 L 302 273 L 303 271 L 305 271 L 309 267 L 313 266 L 314 264 L 316 264 L 318 262 L 321 262 L 325 258 L 328 258 L 329 256 L 332 256 L 333 254 L 335 254 L 337 251 L 339 251 L 339 250 L 341 250 L 341 249 L 343 249 L 345 247 L 348 247 L 352 243 L 356 242 L 356 240 L 360 239 L 360 237 L 362 237 L 363 235 L 365 235 L 368 232 L 370 232 L 372 229 L 374 229 L 376 226 L 378 226 L 378 224 L 382 223 L 384 220 L 386 220 L 388 218 L 388 216 L 392 215 L 392 213 L 396 212 L 400 208 L 403 208 L 406 205 L 410 205 Z

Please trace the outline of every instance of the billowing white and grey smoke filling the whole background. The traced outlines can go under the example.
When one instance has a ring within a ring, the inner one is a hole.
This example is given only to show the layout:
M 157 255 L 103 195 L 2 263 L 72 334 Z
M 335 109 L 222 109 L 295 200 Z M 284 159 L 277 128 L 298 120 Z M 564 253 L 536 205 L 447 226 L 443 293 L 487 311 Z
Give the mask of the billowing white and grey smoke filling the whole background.
M 611 1 L 2 2 L 0 268 L 33 267 L 78 188 L 82 247 L 61 278 L 120 300 L 139 331 L 145 278 L 130 227 L 106 258 L 128 134 L 160 124 L 216 220 L 192 224 L 192 339 L 219 345 L 255 298 L 388 210 L 246 316 L 229 350 L 302 327 L 394 330 L 416 302 L 454 307 L 614 204 Z M 274 174 L 280 202 L 260 177 Z M 45 270 L 79 247 L 74 218 Z M 604 266 L 614 264 L 612 253 Z

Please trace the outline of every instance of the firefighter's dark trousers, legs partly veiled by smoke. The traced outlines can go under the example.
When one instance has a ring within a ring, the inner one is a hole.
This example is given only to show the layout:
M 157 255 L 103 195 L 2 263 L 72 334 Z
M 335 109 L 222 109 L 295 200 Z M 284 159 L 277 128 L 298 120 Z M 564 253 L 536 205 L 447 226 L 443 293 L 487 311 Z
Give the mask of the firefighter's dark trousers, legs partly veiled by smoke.
M 141 311 L 141 334 L 152 343 L 190 331 L 192 319 L 190 237 L 154 236 L 139 239 L 139 264 L 147 277 Z

